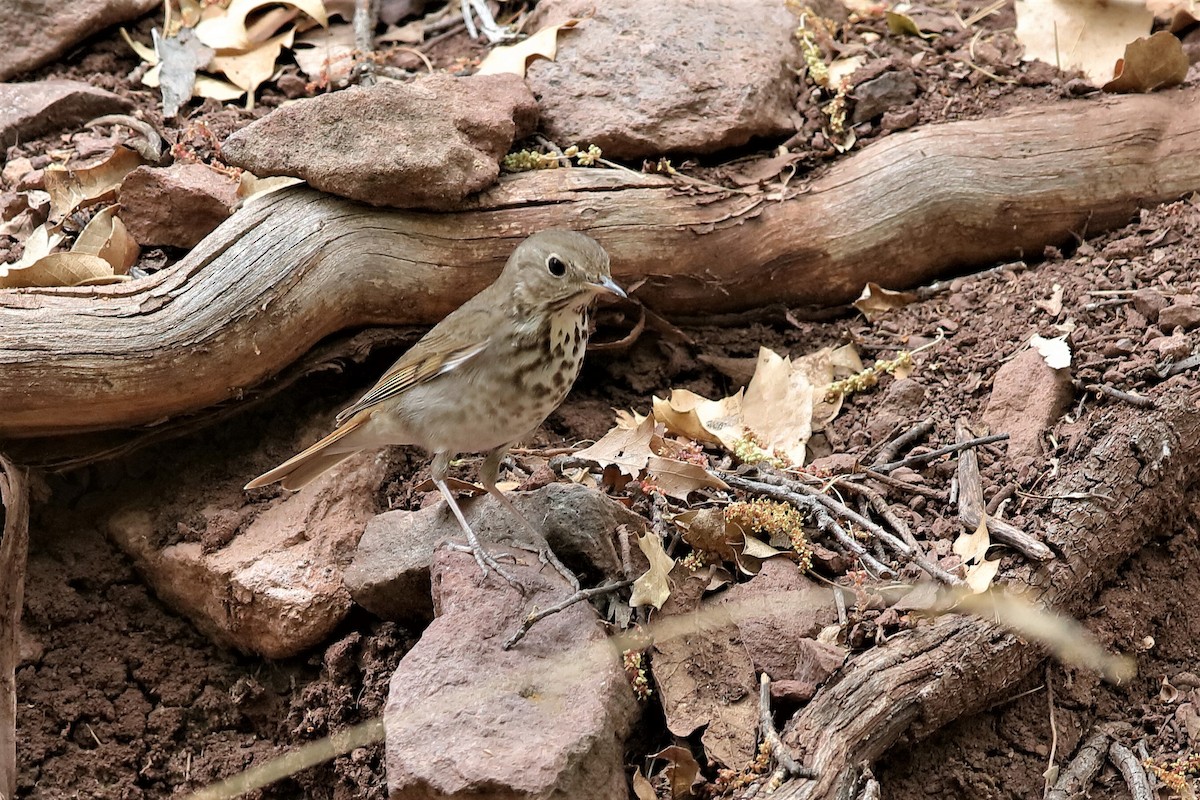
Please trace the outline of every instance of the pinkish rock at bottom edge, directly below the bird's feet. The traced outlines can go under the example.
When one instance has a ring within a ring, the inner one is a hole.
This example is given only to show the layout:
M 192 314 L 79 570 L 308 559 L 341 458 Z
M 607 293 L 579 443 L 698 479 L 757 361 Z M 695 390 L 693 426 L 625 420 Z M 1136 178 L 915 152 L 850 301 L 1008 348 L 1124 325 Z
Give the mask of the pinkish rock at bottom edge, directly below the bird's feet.
M 497 576 L 480 585 L 470 554 L 438 549 L 438 618 L 396 668 L 384 709 L 392 800 L 626 795 L 637 704 L 592 606 L 570 606 L 500 649 L 530 609 L 570 594 L 536 566 L 514 569 L 530 587 L 522 597 Z

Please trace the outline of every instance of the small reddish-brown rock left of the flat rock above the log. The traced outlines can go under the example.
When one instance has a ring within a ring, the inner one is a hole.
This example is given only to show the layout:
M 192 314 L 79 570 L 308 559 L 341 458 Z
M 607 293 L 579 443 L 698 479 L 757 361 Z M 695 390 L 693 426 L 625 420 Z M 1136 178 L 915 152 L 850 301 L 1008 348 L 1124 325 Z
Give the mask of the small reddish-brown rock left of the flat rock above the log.
M 143 247 L 194 247 L 238 205 L 238 181 L 204 164 L 138 167 L 121 184 L 121 222 Z

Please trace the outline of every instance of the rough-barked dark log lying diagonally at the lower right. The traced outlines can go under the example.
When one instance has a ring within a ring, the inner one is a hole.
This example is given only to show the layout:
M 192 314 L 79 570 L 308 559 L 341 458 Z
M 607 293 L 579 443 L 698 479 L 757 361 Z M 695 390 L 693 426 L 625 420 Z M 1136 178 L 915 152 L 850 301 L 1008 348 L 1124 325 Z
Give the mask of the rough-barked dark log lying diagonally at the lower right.
M 1010 582 L 1026 599 L 1078 618 L 1121 564 L 1170 529 L 1172 512 L 1200 480 L 1200 407 L 1174 381 L 1153 395 L 1162 404 L 1154 410 L 1102 410 L 1093 426 L 1111 432 L 1092 452 L 1062 464 L 1063 476 L 1045 491 L 1070 499 L 1028 515 L 1045 519 L 1045 541 L 1060 558 Z M 863 763 L 901 735 L 922 739 L 984 708 L 1044 657 L 1038 645 L 971 616 L 943 616 L 893 637 L 847 662 L 841 679 L 788 722 L 784 741 L 817 778 L 790 781 L 773 796 L 853 796 Z

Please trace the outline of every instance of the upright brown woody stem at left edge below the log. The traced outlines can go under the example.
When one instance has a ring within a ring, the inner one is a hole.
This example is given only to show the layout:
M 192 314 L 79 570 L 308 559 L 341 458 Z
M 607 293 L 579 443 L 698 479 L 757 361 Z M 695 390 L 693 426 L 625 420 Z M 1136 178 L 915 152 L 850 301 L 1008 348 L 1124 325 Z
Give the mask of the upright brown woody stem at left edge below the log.
M 29 487 L 24 470 L 0 455 L 0 798 L 17 796 L 17 661 L 29 554 Z

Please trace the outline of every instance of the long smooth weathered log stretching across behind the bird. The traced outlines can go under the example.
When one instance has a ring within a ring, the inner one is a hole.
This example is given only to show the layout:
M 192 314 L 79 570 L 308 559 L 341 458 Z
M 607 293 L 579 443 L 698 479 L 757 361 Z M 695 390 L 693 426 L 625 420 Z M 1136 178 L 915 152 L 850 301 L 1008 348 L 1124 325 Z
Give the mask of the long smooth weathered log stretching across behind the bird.
M 1039 254 L 1200 190 L 1200 91 L 889 136 L 786 197 L 623 170 L 512 176 L 455 213 L 310 190 L 122 285 L 0 291 L 0 439 L 154 425 L 240 397 L 323 337 L 430 324 L 550 227 L 592 233 L 664 314 L 842 303 Z

